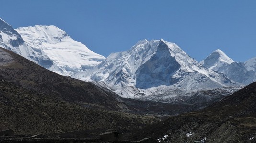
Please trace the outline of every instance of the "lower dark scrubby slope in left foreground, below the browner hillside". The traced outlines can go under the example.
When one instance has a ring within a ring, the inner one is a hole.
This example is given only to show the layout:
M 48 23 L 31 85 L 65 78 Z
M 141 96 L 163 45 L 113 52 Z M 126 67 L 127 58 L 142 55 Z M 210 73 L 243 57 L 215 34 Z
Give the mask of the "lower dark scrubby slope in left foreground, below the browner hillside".
M 81 130 L 131 128 L 153 122 L 122 112 L 81 107 L 0 81 L 0 130 L 15 134 L 53 134 Z

